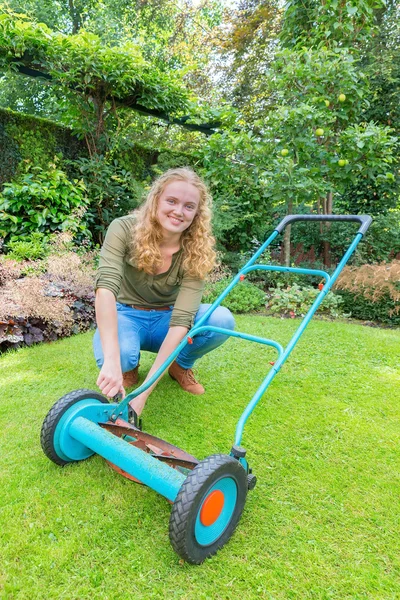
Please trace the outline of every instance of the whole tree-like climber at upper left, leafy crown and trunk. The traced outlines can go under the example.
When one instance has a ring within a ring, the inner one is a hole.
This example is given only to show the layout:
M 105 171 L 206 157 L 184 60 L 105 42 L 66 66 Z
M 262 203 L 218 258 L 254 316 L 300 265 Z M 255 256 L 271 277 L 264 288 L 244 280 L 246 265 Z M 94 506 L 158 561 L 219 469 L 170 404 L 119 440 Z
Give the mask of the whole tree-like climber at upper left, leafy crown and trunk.
M 114 156 L 121 146 L 123 112 L 133 104 L 171 118 L 182 116 L 190 102 L 181 79 L 145 60 L 132 42 L 111 46 L 83 31 L 55 33 L 10 10 L 0 15 L 0 68 L 34 70 L 51 78 L 62 121 L 86 141 L 90 158 L 82 158 L 75 168 L 91 198 L 85 218 L 94 221 L 101 241 L 129 183 L 129 173 Z

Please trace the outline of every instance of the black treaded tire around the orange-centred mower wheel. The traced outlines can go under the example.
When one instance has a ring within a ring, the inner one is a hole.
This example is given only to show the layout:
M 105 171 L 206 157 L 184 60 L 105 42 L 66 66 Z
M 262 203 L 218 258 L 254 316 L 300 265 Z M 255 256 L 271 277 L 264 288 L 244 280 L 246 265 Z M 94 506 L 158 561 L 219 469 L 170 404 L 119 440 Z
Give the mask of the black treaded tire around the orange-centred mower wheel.
M 208 546 L 200 545 L 194 533 L 196 517 L 207 491 L 220 479 L 230 477 L 237 486 L 232 517 L 220 537 Z M 175 552 L 185 561 L 199 565 L 215 554 L 232 536 L 242 515 L 247 495 L 247 474 L 238 460 L 214 454 L 189 473 L 175 499 L 169 520 L 169 538 Z

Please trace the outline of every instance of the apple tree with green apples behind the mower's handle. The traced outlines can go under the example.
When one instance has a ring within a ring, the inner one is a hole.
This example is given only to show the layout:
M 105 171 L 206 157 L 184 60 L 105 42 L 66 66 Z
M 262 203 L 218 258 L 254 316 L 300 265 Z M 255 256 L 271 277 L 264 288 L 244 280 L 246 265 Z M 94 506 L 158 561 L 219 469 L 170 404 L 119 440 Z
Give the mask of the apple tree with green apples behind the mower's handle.
M 286 204 L 286 212 L 301 202 L 321 213 L 348 212 L 346 189 L 358 183 L 376 189 L 376 206 L 368 206 L 372 214 L 381 212 L 382 201 L 386 206 L 396 203 L 397 138 L 390 127 L 361 120 L 368 96 L 368 80 L 345 48 L 323 46 L 277 54 L 254 127 L 273 156 L 265 178 L 267 188 L 277 202 Z M 362 203 L 355 208 L 362 209 Z M 287 260 L 288 256 L 286 249 Z

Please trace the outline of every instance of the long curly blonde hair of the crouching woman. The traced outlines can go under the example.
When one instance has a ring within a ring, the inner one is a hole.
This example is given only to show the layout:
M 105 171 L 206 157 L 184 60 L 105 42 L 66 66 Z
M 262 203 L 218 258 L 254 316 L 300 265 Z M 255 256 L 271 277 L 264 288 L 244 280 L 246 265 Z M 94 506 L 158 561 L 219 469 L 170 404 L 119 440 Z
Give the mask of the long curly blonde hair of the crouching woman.
M 165 187 L 172 181 L 186 181 L 200 193 L 197 213 L 190 226 L 182 232 L 183 270 L 199 279 L 215 266 L 215 239 L 211 233 L 211 195 L 204 181 L 189 167 L 169 169 L 150 188 L 147 199 L 135 212 L 132 227 L 130 258 L 137 268 L 155 274 L 163 264 L 160 243 L 163 239 L 161 225 L 157 218 L 158 200 Z

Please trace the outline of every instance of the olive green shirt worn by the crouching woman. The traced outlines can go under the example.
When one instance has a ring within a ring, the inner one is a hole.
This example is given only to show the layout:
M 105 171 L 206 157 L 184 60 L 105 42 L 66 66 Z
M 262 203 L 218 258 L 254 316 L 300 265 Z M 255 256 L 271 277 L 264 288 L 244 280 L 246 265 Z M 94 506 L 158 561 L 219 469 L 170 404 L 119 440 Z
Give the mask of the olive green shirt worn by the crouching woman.
M 110 290 L 122 304 L 145 308 L 173 305 L 170 325 L 190 329 L 200 306 L 204 281 L 189 277 L 182 268 L 182 250 L 172 256 L 168 271 L 149 275 L 129 259 L 135 217 L 115 219 L 108 228 L 100 253 L 95 289 Z

